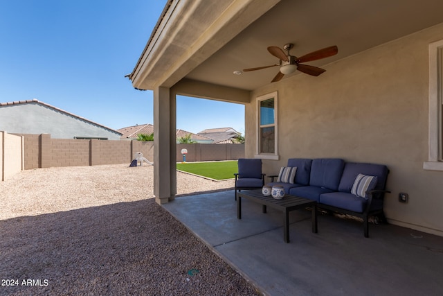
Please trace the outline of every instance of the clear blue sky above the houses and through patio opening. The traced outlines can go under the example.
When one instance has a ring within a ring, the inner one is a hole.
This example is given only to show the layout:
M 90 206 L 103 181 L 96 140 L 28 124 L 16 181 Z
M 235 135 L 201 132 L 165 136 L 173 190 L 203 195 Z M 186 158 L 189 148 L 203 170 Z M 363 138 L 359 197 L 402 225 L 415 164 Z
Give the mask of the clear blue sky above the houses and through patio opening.
M 132 72 L 165 0 L 0 0 L 0 102 L 37 98 L 109 128 L 153 123 Z M 1 120 L 1 119 L 0 119 Z M 177 98 L 177 128 L 232 127 L 244 106 Z

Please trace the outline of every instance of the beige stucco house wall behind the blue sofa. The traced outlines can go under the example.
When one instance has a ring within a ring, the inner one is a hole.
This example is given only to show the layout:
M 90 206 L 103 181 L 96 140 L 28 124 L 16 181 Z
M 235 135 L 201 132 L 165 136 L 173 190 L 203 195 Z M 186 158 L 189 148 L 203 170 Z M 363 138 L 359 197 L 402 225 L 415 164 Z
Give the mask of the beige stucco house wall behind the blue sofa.
M 428 44 L 442 39 L 440 24 L 329 64 L 317 78 L 299 74 L 256 89 L 245 108 L 246 157 L 256 149 L 255 98 L 278 91 L 280 160 L 264 160 L 264 173 L 278 173 L 291 157 L 386 164 L 390 223 L 443 235 L 443 171 L 423 169 Z M 399 192 L 409 194 L 407 204 Z

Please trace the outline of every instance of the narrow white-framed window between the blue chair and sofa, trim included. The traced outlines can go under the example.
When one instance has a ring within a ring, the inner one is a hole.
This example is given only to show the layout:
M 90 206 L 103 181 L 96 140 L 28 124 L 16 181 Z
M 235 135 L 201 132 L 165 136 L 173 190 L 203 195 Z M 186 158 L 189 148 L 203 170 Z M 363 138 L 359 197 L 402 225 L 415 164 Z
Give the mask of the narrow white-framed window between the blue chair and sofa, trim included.
M 277 92 L 257 98 L 257 158 L 278 159 Z

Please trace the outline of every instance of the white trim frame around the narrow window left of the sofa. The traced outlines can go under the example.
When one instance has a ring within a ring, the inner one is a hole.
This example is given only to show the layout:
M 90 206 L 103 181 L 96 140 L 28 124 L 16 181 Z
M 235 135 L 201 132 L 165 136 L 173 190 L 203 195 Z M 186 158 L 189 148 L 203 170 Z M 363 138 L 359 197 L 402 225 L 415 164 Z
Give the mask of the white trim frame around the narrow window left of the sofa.
M 274 133 L 275 133 L 275 148 L 274 153 L 260 153 L 260 102 L 268 100 L 269 98 L 274 99 Z M 264 94 L 263 96 L 257 97 L 257 123 L 256 123 L 256 139 L 257 145 L 255 150 L 255 158 L 260 159 L 271 159 L 278 160 L 278 92 L 271 92 L 270 94 Z

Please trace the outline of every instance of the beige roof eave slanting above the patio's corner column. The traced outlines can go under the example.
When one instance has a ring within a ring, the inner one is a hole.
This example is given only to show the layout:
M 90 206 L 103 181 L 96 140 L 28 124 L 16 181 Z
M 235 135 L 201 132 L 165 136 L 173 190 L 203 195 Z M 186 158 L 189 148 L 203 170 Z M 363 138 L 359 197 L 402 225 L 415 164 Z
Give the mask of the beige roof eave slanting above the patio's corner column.
M 168 1 L 129 75 L 132 85 L 172 87 L 279 1 L 231 0 L 224 10 L 218 0 Z

